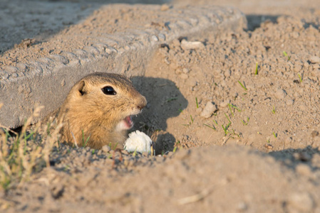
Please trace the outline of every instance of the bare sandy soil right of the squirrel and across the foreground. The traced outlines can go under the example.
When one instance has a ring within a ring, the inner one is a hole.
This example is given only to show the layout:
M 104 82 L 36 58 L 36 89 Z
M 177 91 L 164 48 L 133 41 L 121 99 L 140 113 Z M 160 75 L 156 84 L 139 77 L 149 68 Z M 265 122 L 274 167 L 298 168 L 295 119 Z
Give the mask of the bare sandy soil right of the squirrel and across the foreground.
M 145 76 L 132 78 L 148 99 L 135 129 L 153 136 L 163 155 L 123 151 L 121 159 L 61 145 L 50 168 L 1 192 L 1 208 L 320 212 L 320 4 L 210 3 L 242 9 L 248 30 L 199 38 L 191 50 L 193 38 L 164 44 Z

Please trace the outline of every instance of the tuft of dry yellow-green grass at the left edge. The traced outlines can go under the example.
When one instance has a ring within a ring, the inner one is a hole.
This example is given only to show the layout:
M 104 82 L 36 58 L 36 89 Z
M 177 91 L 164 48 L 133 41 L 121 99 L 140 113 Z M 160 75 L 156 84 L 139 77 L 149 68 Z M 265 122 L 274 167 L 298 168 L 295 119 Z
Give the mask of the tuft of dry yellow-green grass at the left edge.
M 40 136 L 41 123 L 30 125 L 41 109 L 35 107 L 19 133 L 0 124 L 0 190 L 18 187 L 30 180 L 34 172 L 50 166 L 49 155 L 53 146 L 58 146 L 62 125 L 51 126 L 49 121 Z

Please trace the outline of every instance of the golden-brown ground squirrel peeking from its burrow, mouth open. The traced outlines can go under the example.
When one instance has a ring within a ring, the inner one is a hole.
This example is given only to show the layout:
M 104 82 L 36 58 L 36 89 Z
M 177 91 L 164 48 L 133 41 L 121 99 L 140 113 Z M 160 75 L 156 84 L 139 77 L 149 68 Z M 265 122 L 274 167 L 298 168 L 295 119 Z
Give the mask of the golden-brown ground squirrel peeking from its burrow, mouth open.
M 127 130 L 133 127 L 131 116 L 146 104 L 123 75 L 87 75 L 71 88 L 58 113 L 58 121 L 63 122 L 62 140 L 91 148 L 122 147 Z

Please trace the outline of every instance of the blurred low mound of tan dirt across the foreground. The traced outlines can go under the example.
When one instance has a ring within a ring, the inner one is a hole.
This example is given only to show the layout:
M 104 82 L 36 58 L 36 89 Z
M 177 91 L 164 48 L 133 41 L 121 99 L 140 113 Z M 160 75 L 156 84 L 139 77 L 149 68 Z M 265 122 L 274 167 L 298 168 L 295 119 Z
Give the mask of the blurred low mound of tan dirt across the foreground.
M 27 212 L 317 212 L 314 152 L 283 158 L 284 152 L 210 146 L 157 157 L 124 152 L 120 162 L 113 151 L 63 146 L 53 168 L 2 201 Z

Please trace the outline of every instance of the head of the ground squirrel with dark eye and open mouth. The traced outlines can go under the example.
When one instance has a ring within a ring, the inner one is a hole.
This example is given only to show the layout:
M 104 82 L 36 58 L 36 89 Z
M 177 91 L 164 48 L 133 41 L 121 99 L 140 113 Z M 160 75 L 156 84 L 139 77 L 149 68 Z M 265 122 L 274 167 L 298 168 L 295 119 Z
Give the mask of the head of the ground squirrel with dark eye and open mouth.
M 130 129 L 133 126 L 131 116 L 139 114 L 147 104 L 127 77 L 115 73 L 87 75 L 73 86 L 69 94 L 68 101 L 74 108 L 78 108 L 75 104 L 81 104 L 88 116 L 98 116 L 108 124 L 105 126 L 118 130 Z

